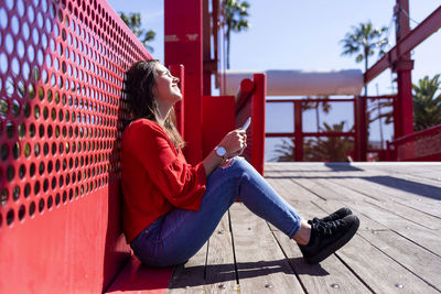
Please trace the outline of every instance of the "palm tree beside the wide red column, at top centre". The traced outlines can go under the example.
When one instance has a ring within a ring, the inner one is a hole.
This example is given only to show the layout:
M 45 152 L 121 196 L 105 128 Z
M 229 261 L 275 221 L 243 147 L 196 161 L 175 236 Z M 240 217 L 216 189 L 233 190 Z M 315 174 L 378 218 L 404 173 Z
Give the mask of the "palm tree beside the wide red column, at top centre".
M 240 32 L 249 28 L 247 9 L 249 3 L 240 0 L 225 0 L 225 39 L 227 41 L 227 68 L 229 68 L 229 41 L 230 33 Z

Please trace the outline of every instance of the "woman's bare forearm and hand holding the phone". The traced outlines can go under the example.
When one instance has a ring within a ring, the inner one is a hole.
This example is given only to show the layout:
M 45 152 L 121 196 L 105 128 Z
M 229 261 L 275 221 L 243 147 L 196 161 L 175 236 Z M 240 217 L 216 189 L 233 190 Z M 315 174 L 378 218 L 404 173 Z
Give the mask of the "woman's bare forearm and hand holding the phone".
M 246 131 L 237 129 L 227 133 L 222 139 L 219 146 L 225 148 L 227 157 L 233 157 L 240 154 L 247 146 L 247 134 Z M 202 161 L 205 173 L 208 176 L 224 160 L 219 157 L 214 150 Z

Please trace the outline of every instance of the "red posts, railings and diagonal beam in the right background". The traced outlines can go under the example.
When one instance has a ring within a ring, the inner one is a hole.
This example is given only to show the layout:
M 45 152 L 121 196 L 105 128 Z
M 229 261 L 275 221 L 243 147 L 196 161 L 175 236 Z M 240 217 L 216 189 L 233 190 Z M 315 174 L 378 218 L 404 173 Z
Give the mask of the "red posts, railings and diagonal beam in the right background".
M 377 153 L 379 160 L 388 161 L 437 161 L 441 156 L 440 128 L 413 133 L 413 107 L 411 69 L 413 61 L 410 59 L 410 51 L 428 39 L 441 28 L 441 7 L 434 10 L 423 22 L 410 31 L 408 0 L 397 0 L 394 13 L 396 14 L 397 45 L 386 53 L 364 75 L 365 84 L 372 81 L 387 68 L 397 73 L 398 94 L 396 96 L 356 97 L 354 100 L 354 132 L 334 134 L 330 132 L 304 133 L 302 131 L 301 105 L 305 99 L 299 100 L 269 100 L 268 102 L 294 104 L 294 133 L 267 133 L 267 137 L 294 138 L 294 160 L 303 160 L 304 137 L 353 137 L 355 143 L 354 160 L 366 161 L 368 153 Z M 392 98 L 394 109 L 394 141 L 388 142 L 387 150 L 368 149 L 367 100 Z M 329 101 L 338 101 L 330 99 Z M 314 99 L 313 101 L 321 101 Z M 297 107 L 295 107 L 297 106 Z

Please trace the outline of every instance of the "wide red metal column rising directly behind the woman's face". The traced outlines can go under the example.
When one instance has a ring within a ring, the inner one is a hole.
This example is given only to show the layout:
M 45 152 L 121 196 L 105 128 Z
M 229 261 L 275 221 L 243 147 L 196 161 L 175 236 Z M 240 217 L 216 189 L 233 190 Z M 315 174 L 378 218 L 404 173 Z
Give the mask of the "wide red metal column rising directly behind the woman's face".
M 202 161 L 202 0 L 165 0 L 165 64 L 185 67 L 185 126 L 190 163 Z

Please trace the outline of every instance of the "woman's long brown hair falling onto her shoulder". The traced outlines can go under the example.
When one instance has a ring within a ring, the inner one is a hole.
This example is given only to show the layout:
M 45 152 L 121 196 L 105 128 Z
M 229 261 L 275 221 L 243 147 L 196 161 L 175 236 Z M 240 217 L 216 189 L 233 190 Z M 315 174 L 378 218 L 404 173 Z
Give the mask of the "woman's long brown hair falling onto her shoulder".
M 133 120 L 144 118 L 159 123 L 174 146 L 183 148 L 185 142 L 175 127 L 174 108 L 172 107 L 163 123 L 159 119 L 160 112 L 154 90 L 158 64 L 157 59 L 141 61 L 135 63 L 127 72 L 126 94 L 130 113 Z

